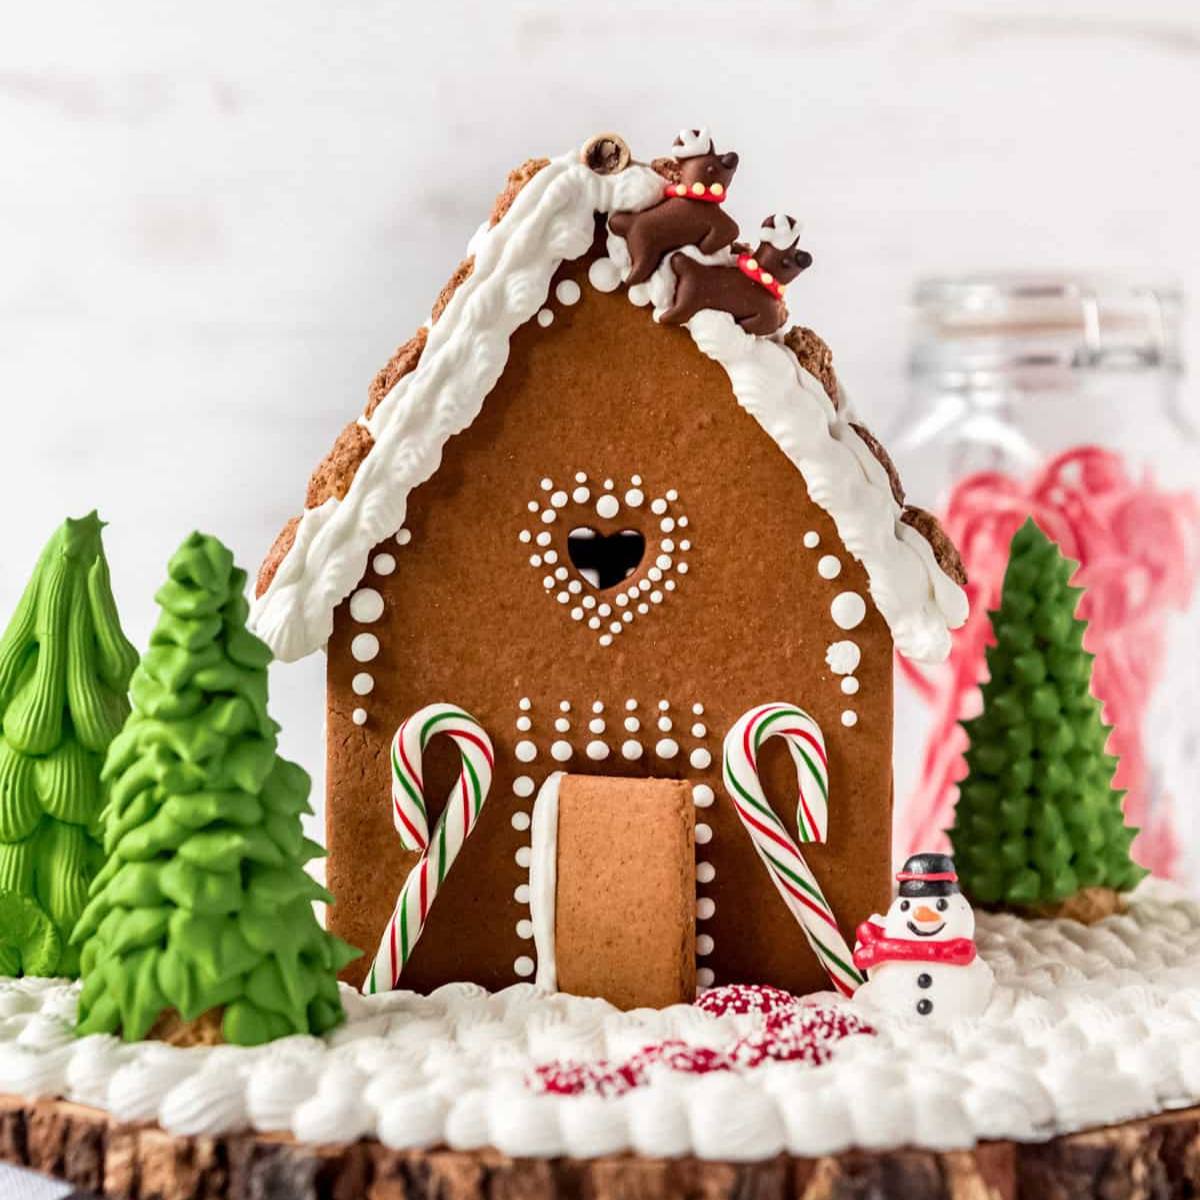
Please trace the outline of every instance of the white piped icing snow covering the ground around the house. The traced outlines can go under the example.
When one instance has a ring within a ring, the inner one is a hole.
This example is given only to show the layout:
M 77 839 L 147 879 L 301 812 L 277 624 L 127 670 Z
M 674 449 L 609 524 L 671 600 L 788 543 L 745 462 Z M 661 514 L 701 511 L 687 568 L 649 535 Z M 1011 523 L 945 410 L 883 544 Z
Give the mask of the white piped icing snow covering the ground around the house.
M 1128 913 L 1092 928 L 983 914 L 978 942 L 997 980 L 979 1019 L 932 1030 L 871 1016 L 878 1034 L 839 1043 L 822 1067 L 664 1073 L 612 1098 L 535 1094 L 524 1079 L 535 1063 L 620 1057 L 667 1037 L 728 1045 L 758 1018 L 622 1013 L 530 984 L 347 988 L 349 1020 L 329 1038 L 185 1050 L 76 1039 L 77 984 L 4 980 L 0 1091 L 179 1134 L 248 1127 L 306 1142 L 710 1159 L 1042 1140 L 1200 1102 L 1200 905 L 1147 883 Z

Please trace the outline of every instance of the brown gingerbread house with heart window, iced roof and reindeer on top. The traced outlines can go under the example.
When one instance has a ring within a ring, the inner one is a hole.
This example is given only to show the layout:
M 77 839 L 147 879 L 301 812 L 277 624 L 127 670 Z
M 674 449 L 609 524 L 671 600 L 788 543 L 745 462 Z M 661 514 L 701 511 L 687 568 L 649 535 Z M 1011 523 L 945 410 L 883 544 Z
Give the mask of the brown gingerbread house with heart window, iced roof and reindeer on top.
M 888 900 L 893 654 L 947 654 L 961 565 L 826 346 L 786 329 L 797 224 L 737 241 L 737 166 L 685 131 L 650 164 L 602 136 L 515 170 L 263 564 L 257 632 L 284 660 L 328 647 L 337 934 L 374 950 L 421 862 L 394 828 L 397 728 L 445 702 L 490 738 L 486 803 L 386 985 L 828 986 L 722 780 L 767 702 L 823 737 L 803 857 L 836 925 Z M 756 778 L 794 842 L 787 749 Z M 415 764 L 430 821 L 461 761 L 432 738 Z

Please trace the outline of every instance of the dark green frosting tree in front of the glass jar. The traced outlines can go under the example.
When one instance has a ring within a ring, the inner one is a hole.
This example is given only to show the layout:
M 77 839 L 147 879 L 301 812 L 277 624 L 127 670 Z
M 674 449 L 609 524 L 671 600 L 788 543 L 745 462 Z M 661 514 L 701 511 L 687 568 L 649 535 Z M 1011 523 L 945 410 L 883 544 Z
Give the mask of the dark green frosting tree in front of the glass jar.
M 980 904 L 1057 905 L 1146 874 L 1112 787 L 1074 568 L 1032 518 L 1013 538 L 983 712 L 962 722 L 970 769 L 949 830 L 964 889 Z

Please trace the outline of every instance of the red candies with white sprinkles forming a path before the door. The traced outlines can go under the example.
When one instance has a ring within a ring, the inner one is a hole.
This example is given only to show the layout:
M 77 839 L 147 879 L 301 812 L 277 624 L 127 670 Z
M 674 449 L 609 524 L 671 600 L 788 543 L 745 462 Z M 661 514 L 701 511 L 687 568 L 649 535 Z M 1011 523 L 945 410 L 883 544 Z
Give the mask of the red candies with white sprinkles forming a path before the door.
M 763 985 L 714 988 L 696 1001 L 713 1016 L 757 1015 L 761 1021 L 727 1050 L 691 1045 L 679 1039 L 655 1042 L 622 1062 L 560 1060 L 534 1067 L 527 1085 L 552 1096 L 623 1096 L 649 1082 L 655 1072 L 708 1075 L 752 1070 L 766 1062 L 803 1062 L 820 1067 L 842 1038 L 871 1036 L 872 1026 L 834 1006 L 805 1004 L 790 992 Z

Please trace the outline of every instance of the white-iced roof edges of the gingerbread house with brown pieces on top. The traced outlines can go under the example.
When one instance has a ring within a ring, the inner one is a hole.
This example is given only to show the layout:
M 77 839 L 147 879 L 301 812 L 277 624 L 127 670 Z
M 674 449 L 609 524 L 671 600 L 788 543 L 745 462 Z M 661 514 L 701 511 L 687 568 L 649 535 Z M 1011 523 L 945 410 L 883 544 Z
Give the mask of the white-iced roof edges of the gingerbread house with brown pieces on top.
M 509 338 L 538 313 L 559 264 L 592 247 L 596 214 L 658 203 L 668 172 L 629 161 L 624 144 L 606 136 L 510 174 L 430 324 L 379 373 L 366 410 L 313 473 L 304 512 L 263 563 L 252 624 L 278 658 L 302 658 L 328 641 L 334 611 L 361 580 L 371 550 L 404 523 L 409 493 L 434 474 L 446 442 L 472 424 L 503 374 Z M 589 272 L 604 290 L 628 274 L 622 239 L 610 235 L 608 256 Z M 659 316 L 673 290 L 667 259 L 629 298 Z M 882 446 L 840 412 L 824 343 L 799 328 L 752 336 L 709 310 L 686 329 L 866 569 L 896 648 L 920 661 L 944 658 L 949 631 L 967 616 L 961 562 L 936 520 L 905 505 Z

